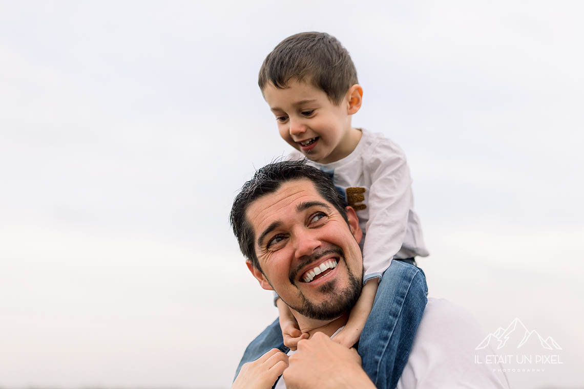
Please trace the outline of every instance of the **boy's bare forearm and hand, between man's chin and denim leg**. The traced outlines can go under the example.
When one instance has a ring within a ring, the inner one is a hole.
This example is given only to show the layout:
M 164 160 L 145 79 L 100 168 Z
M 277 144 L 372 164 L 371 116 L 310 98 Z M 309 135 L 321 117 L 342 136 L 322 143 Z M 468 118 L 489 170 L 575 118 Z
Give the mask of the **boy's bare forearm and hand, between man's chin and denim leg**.
M 357 300 L 357 303 L 351 310 L 345 328 L 340 330 L 339 333 L 332 338 L 333 341 L 342 344 L 347 348 L 353 347 L 353 345 L 359 341 L 367 317 L 369 317 L 369 314 L 371 313 L 371 307 L 373 307 L 373 301 L 375 300 L 375 295 L 377 293 L 377 286 L 377 278 L 367 281 L 361 290 L 359 300 Z

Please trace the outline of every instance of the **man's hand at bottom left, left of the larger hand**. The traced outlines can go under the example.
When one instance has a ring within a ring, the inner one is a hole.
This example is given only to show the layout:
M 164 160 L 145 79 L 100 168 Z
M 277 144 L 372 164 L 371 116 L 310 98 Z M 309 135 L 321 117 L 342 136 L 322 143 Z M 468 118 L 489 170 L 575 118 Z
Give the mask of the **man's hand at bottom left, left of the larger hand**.
M 231 389 L 270 389 L 288 367 L 288 356 L 271 349 L 253 362 L 241 366 Z

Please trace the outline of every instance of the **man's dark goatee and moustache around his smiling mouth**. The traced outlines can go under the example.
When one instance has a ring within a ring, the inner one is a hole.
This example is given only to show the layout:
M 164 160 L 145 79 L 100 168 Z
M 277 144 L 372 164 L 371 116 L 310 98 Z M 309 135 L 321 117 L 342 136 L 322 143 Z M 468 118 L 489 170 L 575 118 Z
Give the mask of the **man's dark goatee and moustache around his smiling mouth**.
M 317 261 L 323 255 L 331 253 L 331 251 L 339 254 L 339 265 L 340 258 L 343 258 L 345 266 L 347 267 L 347 274 L 349 274 L 349 285 L 345 289 L 338 290 L 338 288 L 336 288 L 338 280 L 332 279 L 331 281 L 324 283 L 319 287 L 319 292 L 328 295 L 329 300 L 319 304 L 311 302 L 311 300 L 299 290 L 298 296 L 300 296 L 300 299 L 302 300 L 302 306 L 294 307 L 290 306 L 290 304 L 288 304 L 288 306 L 303 316 L 317 320 L 333 320 L 342 314 L 349 312 L 361 295 L 361 281 L 353 274 L 351 269 L 349 269 L 343 250 L 340 247 L 335 246 L 332 250 L 321 251 L 320 253 L 311 255 L 311 258 L 308 258 L 305 262 Z M 290 275 L 291 282 L 293 282 L 295 276 L 296 271 L 293 271 Z

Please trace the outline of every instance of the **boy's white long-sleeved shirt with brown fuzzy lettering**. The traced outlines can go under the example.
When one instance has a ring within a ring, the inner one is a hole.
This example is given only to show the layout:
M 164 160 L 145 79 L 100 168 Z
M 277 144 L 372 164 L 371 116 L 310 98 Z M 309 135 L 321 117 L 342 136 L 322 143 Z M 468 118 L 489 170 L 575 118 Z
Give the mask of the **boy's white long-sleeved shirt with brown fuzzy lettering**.
M 381 277 L 392 258 L 427 257 L 429 253 L 420 220 L 413 211 L 412 179 L 404 152 L 383 134 L 361 131 L 357 147 L 345 158 L 327 164 L 308 163 L 332 173 L 335 186 L 342 188 L 347 203 L 356 208 L 364 233 L 361 249 L 365 283 Z M 288 156 L 302 158 L 304 155 L 297 151 Z M 347 188 L 355 188 L 352 191 L 356 193 L 347 194 Z M 354 201 L 359 195 L 363 200 Z

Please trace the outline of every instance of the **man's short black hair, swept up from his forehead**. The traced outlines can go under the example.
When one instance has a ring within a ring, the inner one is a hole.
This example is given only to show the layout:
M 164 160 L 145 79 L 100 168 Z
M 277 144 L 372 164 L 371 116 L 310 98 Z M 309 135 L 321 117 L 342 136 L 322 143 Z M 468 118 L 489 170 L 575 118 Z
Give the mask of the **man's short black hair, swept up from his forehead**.
M 293 180 L 307 178 L 312 181 L 318 193 L 339 211 L 347 223 L 347 212 L 345 211 L 345 198 L 336 189 L 331 177 L 306 163 L 306 160 L 280 161 L 267 164 L 262 167 L 241 187 L 241 191 L 235 197 L 229 220 L 233 233 L 237 237 L 239 248 L 245 258 L 252 261 L 253 267 L 260 268 L 258 257 L 255 253 L 255 233 L 245 216 L 250 204 L 256 199 L 267 194 L 276 192 L 281 184 Z

